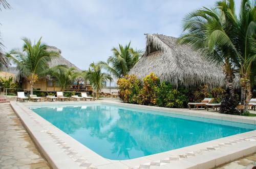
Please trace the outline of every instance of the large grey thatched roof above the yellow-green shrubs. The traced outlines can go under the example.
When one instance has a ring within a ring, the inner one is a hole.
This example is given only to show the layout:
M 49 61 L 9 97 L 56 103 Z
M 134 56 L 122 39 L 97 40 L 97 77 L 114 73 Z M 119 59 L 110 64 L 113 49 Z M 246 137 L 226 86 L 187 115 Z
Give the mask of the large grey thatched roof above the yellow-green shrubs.
M 177 44 L 177 38 L 159 34 L 145 35 L 145 53 L 129 74 L 142 79 L 153 72 L 161 81 L 170 82 L 175 87 L 226 85 L 220 66 L 207 62 L 188 45 Z

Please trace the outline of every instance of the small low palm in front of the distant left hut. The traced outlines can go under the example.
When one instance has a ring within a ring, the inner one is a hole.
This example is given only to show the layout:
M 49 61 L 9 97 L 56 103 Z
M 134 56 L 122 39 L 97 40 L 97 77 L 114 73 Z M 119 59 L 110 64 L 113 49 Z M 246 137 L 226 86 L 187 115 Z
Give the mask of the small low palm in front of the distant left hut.
M 63 66 L 54 68 L 50 74 L 59 82 L 61 91 L 64 91 L 68 86 L 72 85 L 74 79 L 80 75 L 80 73 L 75 70 L 75 67 L 66 68 Z

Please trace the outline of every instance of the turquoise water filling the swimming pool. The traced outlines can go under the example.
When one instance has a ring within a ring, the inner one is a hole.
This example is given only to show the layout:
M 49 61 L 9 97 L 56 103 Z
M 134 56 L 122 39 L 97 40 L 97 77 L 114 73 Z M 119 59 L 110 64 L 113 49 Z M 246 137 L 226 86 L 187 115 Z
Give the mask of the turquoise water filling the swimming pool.
M 161 153 L 255 129 L 254 125 L 108 104 L 30 108 L 84 146 L 113 160 Z

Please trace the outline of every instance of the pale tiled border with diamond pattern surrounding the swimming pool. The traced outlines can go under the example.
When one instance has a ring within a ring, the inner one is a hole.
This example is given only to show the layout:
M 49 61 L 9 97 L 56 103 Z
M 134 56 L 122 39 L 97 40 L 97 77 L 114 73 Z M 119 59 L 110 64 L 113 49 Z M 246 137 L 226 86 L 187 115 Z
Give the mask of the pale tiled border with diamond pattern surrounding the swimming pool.
M 101 101 L 97 101 L 101 102 Z M 255 125 L 255 117 L 240 117 L 187 109 L 168 109 L 102 101 L 124 107 L 137 107 L 185 114 L 188 118 L 207 117 Z M 88 104 L 92 102 L 51 102 L 47 104 Z M 95 102 L 93 102 L 95 103 Z M 16 114 L 53 168 L 214 168 L 256 152 L 256 131 L 220 138 L 193 146 L 131 160 L 109 160 L 99 156 L 63 133 L 25 105 L 46 103 L 11 102 Z M 227 122 L 228 123 L 228 122 Z

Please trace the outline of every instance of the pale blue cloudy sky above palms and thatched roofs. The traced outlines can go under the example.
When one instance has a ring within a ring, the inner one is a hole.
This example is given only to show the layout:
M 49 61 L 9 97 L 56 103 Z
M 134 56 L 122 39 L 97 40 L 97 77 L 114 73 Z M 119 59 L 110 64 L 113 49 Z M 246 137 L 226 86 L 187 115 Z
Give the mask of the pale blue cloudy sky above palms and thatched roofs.
M 29 37 L 58 47 L 62 56 L 81 69 L 106 61 L 113 46 L 126 44 L 144 49 L 144 33 L 178 37 L 181 19 L 215 0 L 36 0 L 11 1 L 0 12 L 0 31 L 6 51 L 20 47 Z M 240 3 L 239 0 L 236 1 Z

